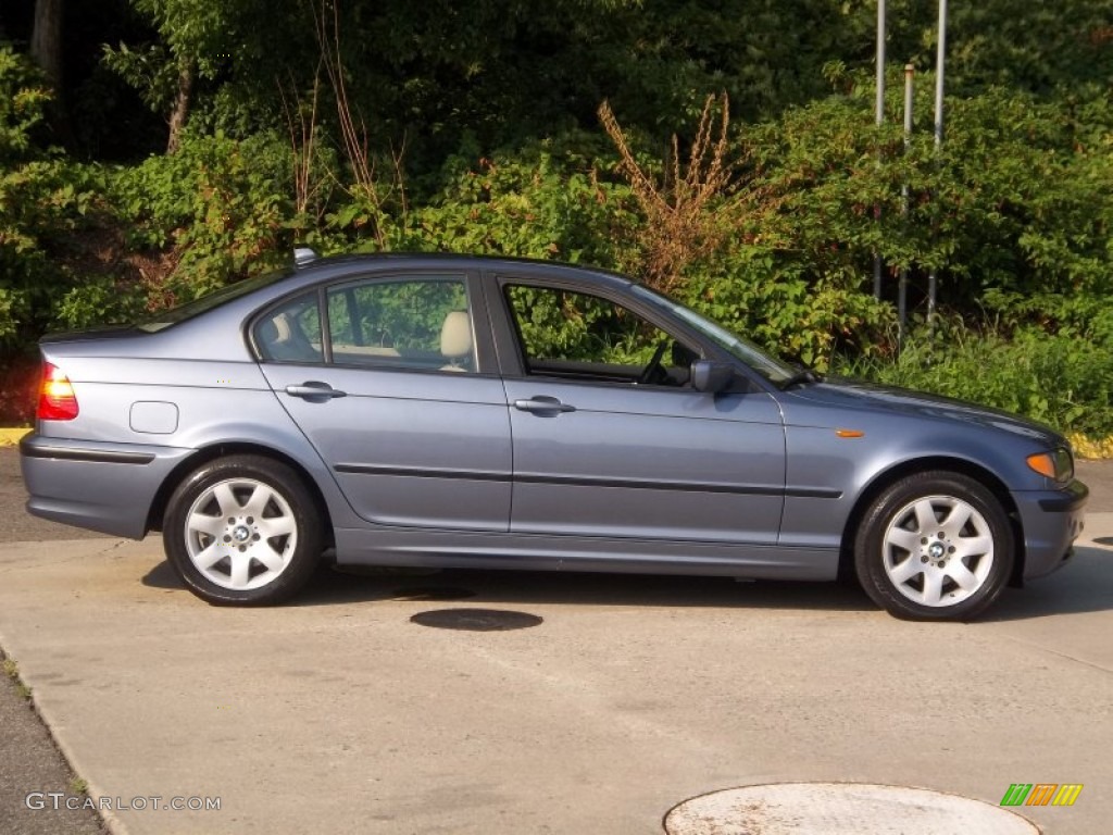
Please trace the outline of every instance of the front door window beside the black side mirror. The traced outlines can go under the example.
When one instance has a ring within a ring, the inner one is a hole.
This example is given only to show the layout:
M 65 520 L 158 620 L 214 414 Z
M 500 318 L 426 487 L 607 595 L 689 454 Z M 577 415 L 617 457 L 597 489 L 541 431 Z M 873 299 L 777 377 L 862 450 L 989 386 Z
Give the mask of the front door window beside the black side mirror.
M 508 285 L 526 373 L 619 384 L 680 386 L 699 353 L 601 296 Z

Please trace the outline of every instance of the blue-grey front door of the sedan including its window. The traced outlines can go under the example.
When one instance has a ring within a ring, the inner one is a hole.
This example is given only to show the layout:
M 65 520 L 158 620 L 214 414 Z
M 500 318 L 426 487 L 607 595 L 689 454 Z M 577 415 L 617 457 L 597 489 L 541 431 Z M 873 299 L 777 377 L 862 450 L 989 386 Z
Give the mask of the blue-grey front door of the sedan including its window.
M 697 392 L 700 346 L 603 295 L 505 281 L 521 374 L 508 377 L 511 530 L 772 544 L 785 434 L 754 389 Z

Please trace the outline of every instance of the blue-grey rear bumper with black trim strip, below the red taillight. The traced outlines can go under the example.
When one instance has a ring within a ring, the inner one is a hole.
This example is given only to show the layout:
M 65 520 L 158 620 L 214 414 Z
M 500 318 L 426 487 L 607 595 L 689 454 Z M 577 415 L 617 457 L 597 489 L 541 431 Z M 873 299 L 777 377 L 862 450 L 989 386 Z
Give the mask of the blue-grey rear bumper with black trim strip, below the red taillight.
M 76 528 L 142 539 L 151 502 L 193 450 L 27 435 L 19 444 L 27 511 Z

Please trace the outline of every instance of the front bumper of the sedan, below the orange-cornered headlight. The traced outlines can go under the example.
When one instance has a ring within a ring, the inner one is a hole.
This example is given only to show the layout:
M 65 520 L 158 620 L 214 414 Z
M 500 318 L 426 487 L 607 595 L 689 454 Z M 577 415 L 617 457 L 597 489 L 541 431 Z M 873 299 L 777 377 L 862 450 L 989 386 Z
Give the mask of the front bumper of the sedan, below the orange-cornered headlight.
M 1051 573 L 1071 556 L 1085 518 L 1090 490 L 1072 481 L 1062 490 L 1013 493 L 1024 531 L 1024 579 Z

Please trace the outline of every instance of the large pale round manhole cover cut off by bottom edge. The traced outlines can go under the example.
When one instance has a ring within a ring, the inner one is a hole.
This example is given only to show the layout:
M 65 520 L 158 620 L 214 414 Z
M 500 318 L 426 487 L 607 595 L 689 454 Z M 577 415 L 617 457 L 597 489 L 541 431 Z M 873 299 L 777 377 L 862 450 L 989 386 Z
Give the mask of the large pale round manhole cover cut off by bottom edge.
M 693 797 L 664 816 L 669 835 L 1038 835 L 999 806 L 926 788 L 861 783 L 742 786 Z

